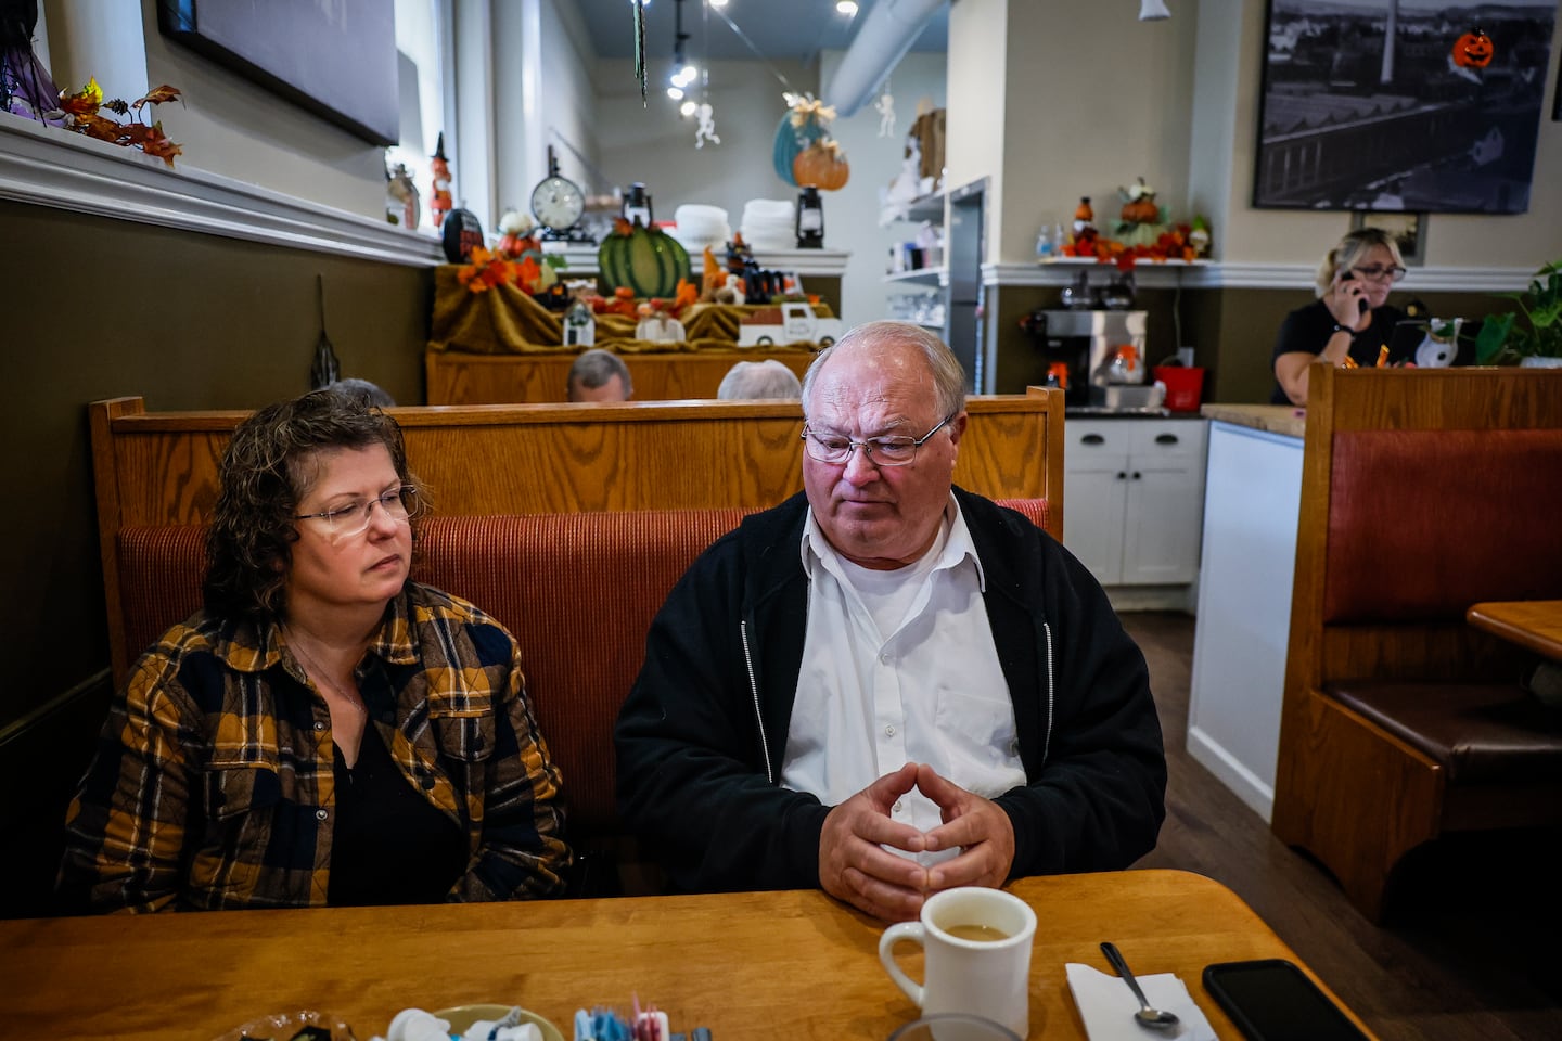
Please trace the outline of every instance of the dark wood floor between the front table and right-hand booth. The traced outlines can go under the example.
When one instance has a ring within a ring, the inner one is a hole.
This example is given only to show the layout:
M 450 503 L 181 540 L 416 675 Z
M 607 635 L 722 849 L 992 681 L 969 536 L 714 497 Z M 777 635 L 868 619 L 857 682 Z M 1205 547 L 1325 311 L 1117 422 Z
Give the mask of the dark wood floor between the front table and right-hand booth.
M 1418 851 L 1393 922 L 1364 919 L 1315 862 L 1187 754 L 1193 618 L 1125 613 L 1165 730 L 1167 821 L 1143 868 L 1236 890 L 1382 1041 L 1562 1038 L 1562 838 L 1482 835 Z

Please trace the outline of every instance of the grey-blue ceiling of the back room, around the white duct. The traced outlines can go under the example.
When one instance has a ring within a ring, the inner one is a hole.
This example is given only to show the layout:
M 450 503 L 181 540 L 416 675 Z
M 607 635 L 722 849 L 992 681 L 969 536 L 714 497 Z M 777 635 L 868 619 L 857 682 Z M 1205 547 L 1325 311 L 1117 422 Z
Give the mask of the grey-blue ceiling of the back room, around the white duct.
M 590 30 L 598 58 L 633 58 L 634 5 L 631 0 L 573 2 Z M 836 12 L 836 0 L 729 0 L 723 11 L 759 52 L 770 59 L 812 64 L 820 50 L 843 50 L 876 0 L 859 0 L 856 17 Z M 645 6 L 645 56 L 662 61 L 673 56 L 676 0 L 650 0 Z M 684 53 L 692 61 L 754 59 L 754 52 L 712 9 L 706 17 L 703 0 L 683 3 Z M 912 44 L 912 50 L 942 52 L 948 47 L 948 6 Z

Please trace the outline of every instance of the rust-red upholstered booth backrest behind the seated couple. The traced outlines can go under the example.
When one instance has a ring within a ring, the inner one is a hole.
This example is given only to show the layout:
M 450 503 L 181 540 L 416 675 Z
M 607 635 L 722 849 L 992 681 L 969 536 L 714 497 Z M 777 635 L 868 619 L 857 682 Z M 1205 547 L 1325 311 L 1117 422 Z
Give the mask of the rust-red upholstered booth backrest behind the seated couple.
M 1045 526 L 1042 499 L 1001 499 Z M 620 827 L 612 726 L 645 660 L 645 634 L 700 552 L 748 510 L 628 510 L 531 517 L 431 517 L 414 577 L 462 596 L 520 643 L 526 691 L 564 776 L 570 841 L 587 860 L 626 865 L 625 888 L 654 888 Z M 120 531 L 127 640 L 152 645 L 200 607 L 206 529 Z M 595 891 L 617 888 L 594 872 Z

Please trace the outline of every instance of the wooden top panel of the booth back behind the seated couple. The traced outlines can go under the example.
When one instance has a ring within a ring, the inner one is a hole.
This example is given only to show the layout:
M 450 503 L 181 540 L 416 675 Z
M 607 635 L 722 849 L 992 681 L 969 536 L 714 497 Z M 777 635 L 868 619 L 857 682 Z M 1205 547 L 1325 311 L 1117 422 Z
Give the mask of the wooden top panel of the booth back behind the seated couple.
M 1062 538 L 1062 392 L 973 395 L 954 481 L 995 499 L 1045 503 Z M 408 462 L 444 517 L 764 509 L 803 487 L 797 401 L 411 406 L 389 414 Z M 241 410 L 147 412 L 139 396 L 89 406 L 98 543 L 108 604 L 120 604 L 127 528 L 203 524 Z M 128 648 L 108 610 L 114 676 Z M 177 620 L 170 620 L 177 621 Z

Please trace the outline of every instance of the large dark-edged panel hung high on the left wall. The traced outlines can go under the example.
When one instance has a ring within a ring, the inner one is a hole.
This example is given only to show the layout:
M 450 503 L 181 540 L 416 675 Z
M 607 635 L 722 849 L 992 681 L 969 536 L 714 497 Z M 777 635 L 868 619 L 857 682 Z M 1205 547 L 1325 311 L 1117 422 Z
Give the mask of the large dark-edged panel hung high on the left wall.
M 370 144 L 401 136 L 389 0 L 158 0 L 158 28 Z

